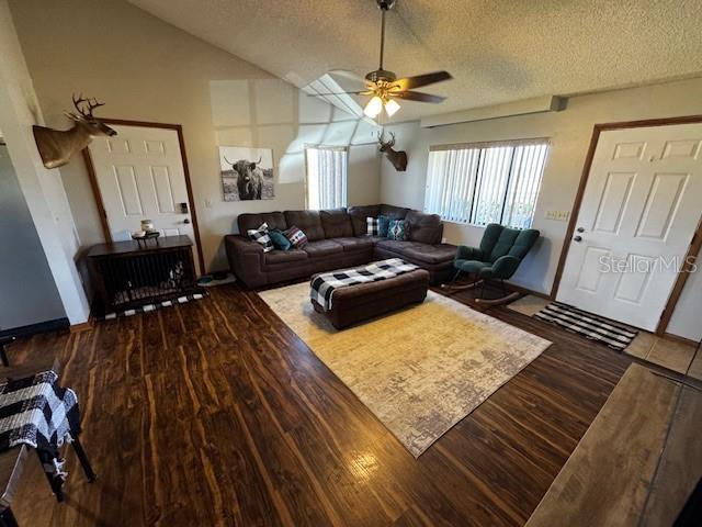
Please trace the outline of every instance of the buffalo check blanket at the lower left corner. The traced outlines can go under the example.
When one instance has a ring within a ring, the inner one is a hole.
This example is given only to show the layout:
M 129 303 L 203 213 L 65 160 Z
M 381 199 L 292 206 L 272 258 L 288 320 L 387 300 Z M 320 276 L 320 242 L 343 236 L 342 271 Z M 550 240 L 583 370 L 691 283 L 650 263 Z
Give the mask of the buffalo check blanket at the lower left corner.
M 76 393 L 44 371 L 0 384 L 0 451 L 29 445 L 53 457 L 80 431 Z

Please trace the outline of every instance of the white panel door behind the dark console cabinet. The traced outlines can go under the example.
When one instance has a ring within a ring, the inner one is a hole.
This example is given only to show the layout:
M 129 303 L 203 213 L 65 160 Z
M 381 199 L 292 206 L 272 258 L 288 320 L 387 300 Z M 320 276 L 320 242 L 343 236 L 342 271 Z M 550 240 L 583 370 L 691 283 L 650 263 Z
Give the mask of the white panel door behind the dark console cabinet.
M 111 127 L 116 136 L 97 137 L 89 148 L 113 239 L 151 220 L 161 236 L 184 234 L 194 243 L 178 132 Z

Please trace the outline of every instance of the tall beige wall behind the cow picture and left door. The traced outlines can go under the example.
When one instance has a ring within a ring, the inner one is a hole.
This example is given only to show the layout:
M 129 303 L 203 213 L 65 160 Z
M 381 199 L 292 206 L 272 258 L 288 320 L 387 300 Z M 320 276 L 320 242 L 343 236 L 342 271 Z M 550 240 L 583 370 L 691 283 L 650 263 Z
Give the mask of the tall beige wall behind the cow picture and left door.
M 377 202 L 372 131 L 292 85 L 122 0 L 10 0 L 46 121 L 67 127 L 72 92 L 98 97 L 99 115 L 183 126 L 205 265 L 226 268 L 222 239 L 242 212 L 304 208 L 305 144 L 358 145 L 349 202 Z M 217 144 L 273 148 L 275 199 L 225 203 Z M 80 157 L 61 169 L 81 246 L 102 242 Z

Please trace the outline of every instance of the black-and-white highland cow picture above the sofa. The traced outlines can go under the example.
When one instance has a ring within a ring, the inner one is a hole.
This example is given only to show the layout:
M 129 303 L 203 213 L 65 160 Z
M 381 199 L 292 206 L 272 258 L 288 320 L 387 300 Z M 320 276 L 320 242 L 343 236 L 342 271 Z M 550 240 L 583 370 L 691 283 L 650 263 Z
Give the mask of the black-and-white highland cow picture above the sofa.
M 272 200 L 273 150 L 247 146 L 220 146 L 219 168 L 224 201 Z

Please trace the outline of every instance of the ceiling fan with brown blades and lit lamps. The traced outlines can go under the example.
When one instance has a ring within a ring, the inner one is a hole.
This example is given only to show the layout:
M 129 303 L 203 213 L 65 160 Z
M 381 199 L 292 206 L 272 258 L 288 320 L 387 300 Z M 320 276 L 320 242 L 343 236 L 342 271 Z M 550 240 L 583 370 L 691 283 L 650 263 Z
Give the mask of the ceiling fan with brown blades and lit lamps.
M 443 80 L 452 79 L 449 71 L 432 71 L 431 74 L 416 75 L 414 77 L 397 78 L 395 72 L 383 68 L 383 55 L 385 52 L 385 13 L 393 9 L 397 0 L 376 0 L 381 9 L 381 60 L 380 67 L 365 76 L 365 90 L 343 91 L 341 93 L 322 93 L 322 96 L 356 94 L 373 96 L 363 109 L 363 113 L 371 119 L 377 117 L 383 109 L 388 117 L 392 117 L 400 105 L 396 99 L 407 101 L 439 103 L 445 98 L 432 96 L 421 91 L 412 91 L 414 88 L 433 85 Z

